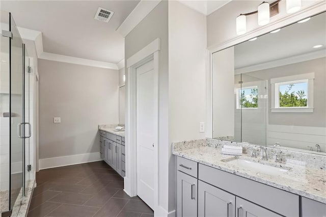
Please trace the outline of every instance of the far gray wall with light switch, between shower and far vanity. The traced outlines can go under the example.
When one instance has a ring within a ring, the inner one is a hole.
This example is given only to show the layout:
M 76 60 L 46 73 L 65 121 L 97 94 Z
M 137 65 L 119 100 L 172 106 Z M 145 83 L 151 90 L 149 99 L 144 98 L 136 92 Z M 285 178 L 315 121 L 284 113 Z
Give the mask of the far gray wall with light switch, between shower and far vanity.
M 118 70 L 39 60 L 38 71 L 40 159 L 99 152 L 98 124 L 119 121 Z

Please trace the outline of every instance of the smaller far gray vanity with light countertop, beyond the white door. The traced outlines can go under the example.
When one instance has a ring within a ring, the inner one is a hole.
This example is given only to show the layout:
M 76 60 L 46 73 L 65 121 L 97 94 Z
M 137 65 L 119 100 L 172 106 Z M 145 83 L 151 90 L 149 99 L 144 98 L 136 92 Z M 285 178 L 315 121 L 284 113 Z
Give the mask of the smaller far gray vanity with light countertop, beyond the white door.
M 115 127 L 100 125 L 100 155 L 106 164 L 122 177 L 125 176 L 125 132 L 115 131 Z

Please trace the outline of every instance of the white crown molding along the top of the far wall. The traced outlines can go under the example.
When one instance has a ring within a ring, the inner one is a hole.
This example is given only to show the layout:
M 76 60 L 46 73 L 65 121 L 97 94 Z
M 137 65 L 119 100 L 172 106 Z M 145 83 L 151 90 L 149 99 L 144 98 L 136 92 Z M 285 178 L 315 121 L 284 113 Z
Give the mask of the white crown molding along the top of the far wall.
M 106 63 L 106 62 L 100 62 L 100 61 L 95 61 L 95 60 L 69 57 L 69 56 L 64 56 L 64 55 L 57 55 L 55 53 L 42 52 L 38 58 L 43 59 L 43 60 L 51 60 L 51 61 L 57 61 L 57 62 L 72 63 L 72 64 L 77 64 L 77 65 L 93 66 L 93 67 L 99 67 L 99 68 L 118 70 L 118 66 L 115 63 Z

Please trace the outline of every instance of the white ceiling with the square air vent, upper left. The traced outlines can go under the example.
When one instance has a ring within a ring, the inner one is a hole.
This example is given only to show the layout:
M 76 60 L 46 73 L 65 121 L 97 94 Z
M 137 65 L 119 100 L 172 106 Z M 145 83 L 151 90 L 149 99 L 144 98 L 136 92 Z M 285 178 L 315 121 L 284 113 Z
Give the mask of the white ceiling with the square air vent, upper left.
M 124 38 L 116 30 L 139 0 L 1 1 L 22 28 L 42 32 L 43 50 L 58 55 L 117 64 L 124 58 Z M 114 12 L 106 23 L 94 16 L 102 7 Z

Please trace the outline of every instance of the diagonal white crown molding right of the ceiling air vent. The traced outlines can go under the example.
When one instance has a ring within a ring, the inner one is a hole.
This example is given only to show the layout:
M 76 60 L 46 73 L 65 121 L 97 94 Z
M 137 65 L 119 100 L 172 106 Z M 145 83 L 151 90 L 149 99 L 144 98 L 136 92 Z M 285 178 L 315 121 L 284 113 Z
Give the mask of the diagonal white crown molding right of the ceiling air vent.
M 140 1 L 119 26 L 117 32 L 126 37 L 160 2 L 161 0 Z

